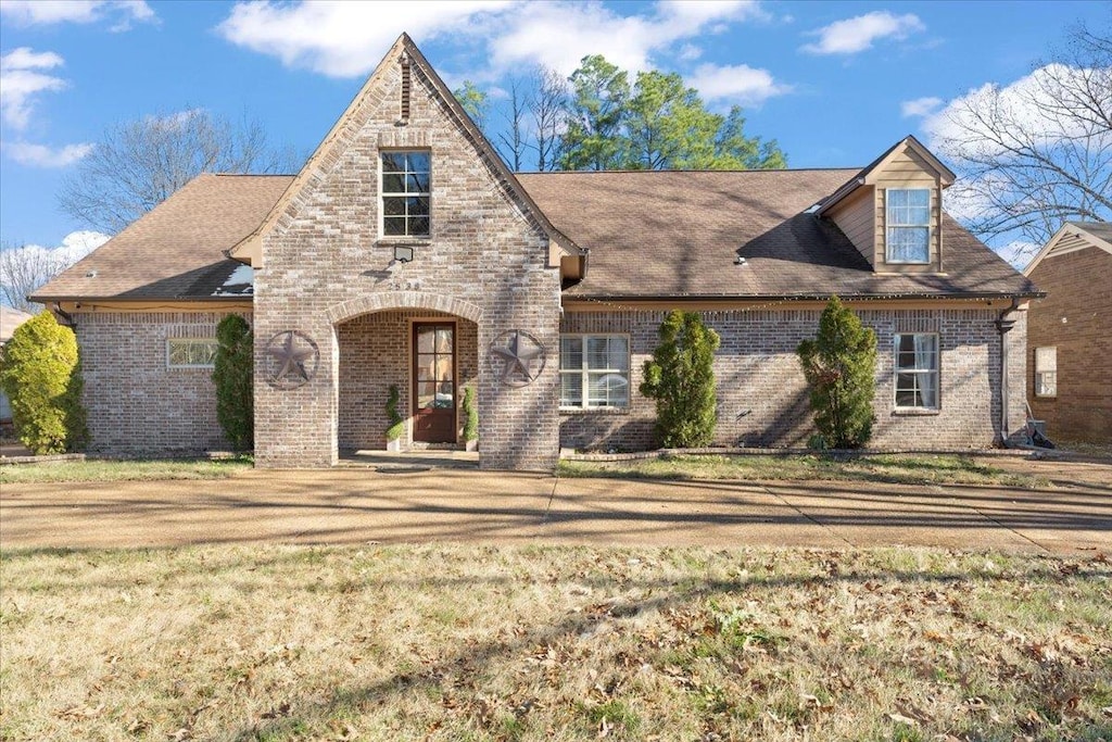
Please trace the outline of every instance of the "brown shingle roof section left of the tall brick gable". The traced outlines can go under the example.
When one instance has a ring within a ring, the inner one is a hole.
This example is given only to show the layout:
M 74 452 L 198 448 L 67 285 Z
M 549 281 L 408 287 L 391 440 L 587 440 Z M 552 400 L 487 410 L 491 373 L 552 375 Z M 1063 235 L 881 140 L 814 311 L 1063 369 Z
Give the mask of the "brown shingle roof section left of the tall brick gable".
M 32 299 L 211 298 L 240 266 L 225 253 L 258 228 L 290 180 L 199 175 Z

